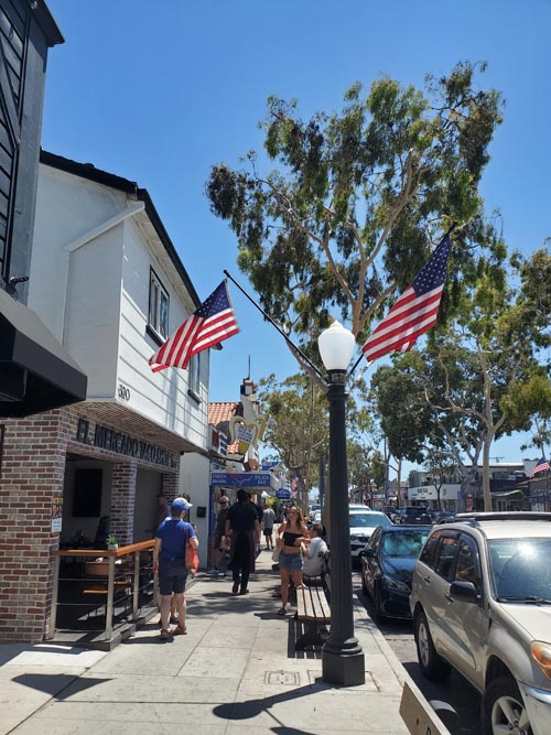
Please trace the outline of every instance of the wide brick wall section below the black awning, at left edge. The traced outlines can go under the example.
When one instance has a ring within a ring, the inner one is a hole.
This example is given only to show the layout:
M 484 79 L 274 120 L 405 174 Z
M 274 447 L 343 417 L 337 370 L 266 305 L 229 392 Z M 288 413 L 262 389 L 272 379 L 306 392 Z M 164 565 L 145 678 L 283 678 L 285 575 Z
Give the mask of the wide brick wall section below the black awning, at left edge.
M 52 507 L 63 497 L 66 436 L 58 411 L 3 422 L 0 640 L 43 640 L 52 604 Z

